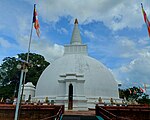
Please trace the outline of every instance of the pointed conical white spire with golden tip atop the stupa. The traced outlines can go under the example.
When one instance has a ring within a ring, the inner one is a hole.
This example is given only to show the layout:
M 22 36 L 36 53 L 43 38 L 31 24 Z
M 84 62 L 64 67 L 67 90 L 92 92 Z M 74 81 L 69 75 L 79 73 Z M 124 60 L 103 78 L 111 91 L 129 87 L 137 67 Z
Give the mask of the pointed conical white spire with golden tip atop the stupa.
M 80 31 L 78 28 L 78 20 L 75 19 L 74 22 L 74 29 L 73 29 L 73 33 L 72 33 L 72 38 L 71 38 L 71 42 L 70 44 L 72 45 L 80 45 L 82 44 L 82 40 L 81 40 L 81 36 L 80 36 Z

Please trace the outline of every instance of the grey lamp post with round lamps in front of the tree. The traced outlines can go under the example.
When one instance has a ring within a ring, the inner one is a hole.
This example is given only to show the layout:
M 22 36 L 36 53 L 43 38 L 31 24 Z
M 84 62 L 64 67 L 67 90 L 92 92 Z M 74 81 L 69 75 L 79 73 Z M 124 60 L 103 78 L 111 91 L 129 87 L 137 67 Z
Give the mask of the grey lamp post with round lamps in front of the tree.
M 16 104 L 16 111 L 15 111 L 15 119 L 18 120 L 18 113 L 19 113 L 19 106 L 21 104 L 21 86 L 22 86 L 22 81 L 23 81 L 23 76 L 25 72 L 28 72 L 27 66 L 25 63 L 23 65 L 17 65 L 18 69 L 21 69 L 21 74 L 20 74 L 20 83 L 19 83 L 19 90 L 18 90 L 18 97 L 17 97 L 17 104 Z

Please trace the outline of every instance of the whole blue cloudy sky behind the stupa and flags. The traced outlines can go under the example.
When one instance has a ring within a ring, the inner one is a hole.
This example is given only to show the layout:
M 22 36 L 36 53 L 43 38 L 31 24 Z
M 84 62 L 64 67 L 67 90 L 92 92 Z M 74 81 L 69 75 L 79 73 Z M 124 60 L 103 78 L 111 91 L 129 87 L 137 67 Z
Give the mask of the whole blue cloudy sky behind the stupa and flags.
M 49 62 L 61 57 L 77 18 L 89 56 L 122 87 L 150 84 L 150 38 L 141 2 L 150 19 L 150 0 L 0 0 L 0 64 L 27 52 L 35 3 L 40 38 L 33 29 L 31 52 Z

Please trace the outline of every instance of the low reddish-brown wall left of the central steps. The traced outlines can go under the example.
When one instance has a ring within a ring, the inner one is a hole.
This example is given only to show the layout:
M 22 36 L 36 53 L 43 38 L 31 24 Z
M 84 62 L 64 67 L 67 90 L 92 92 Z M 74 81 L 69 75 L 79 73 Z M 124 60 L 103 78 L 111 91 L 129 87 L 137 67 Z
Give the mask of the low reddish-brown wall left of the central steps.
M 21 105 L 19 120 L 41 120 L 58 113 L 60 105 Z M 15 105 L 0 104 L 0 120 L 14 120 Z

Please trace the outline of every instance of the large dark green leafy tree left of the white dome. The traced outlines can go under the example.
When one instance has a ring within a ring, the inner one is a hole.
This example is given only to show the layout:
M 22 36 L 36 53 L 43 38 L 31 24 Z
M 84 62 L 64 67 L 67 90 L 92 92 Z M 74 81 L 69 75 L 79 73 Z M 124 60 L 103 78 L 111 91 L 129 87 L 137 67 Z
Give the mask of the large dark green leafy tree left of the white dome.
M 17 69 L 17 65 L 22 64 L 19 59 L 26 60 L 27 53 L 21 53 L 17 56 L 18 59 L 16 57 L 3 59 L 0 67 L 0 97 L 11 97 L 15 88 L 18 88 L 21 71 Z M 36 86 L 41 73 L 50 63 L 42 55 L 36 53 L 30 53 L 29 63 L 32 64 L 32 67 L 28 67 L 25 83 L 32 82 Z

